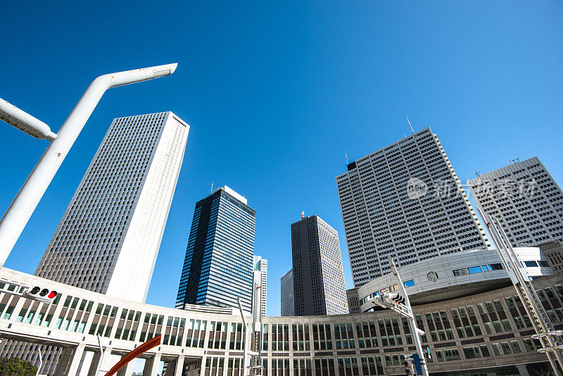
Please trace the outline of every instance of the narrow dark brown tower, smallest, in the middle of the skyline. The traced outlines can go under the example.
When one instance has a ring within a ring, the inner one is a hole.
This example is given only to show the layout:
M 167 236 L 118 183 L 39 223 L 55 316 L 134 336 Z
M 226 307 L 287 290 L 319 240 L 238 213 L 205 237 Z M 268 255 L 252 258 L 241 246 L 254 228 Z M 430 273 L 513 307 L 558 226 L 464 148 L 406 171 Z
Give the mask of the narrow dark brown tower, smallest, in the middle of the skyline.
M 348 313 L 339 234 L 312 215 L 291 225 L 296 316 Z

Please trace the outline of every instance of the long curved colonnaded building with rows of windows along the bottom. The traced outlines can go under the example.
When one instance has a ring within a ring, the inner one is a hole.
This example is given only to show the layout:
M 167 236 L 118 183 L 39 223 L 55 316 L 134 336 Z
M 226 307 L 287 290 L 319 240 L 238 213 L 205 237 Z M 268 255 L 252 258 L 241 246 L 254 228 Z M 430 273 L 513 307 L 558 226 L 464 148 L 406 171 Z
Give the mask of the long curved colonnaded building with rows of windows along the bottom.
M 236 309 L 136 303 L 6 268 L 0 269 L 0 279 L 11 281 L 0 286 L 0 337 L 63 348 L 56 368 L 41 370 L 45 375 L 93 376 L 100 358 L 103 375 L 116 356 L 158 334 L 162 345 L 141 356 L 145 376 L 156 376 L 160 361 L 167 363 L 166 376 L 243 375 L 242 320 Z M 557 273 L 533 282 L 558 329 L 563 328 L 562 280 Z M 59 295 L 46 304 L 11 294 L 11 284 L 51 287 Z M 545 362 L 515 296 L 513 287 L 500 287 L 413 306 L 432 355 L 430 372 L 463 375 L 502 368 L 506 375 L 526 375 L 526 363 Z M 392 311 L 267 317 L 262 323 L 262 375 L 399 375 L 402 356 L 415 352 L 407 323 Z M 118 375 L 131 372 L 129 363 Z

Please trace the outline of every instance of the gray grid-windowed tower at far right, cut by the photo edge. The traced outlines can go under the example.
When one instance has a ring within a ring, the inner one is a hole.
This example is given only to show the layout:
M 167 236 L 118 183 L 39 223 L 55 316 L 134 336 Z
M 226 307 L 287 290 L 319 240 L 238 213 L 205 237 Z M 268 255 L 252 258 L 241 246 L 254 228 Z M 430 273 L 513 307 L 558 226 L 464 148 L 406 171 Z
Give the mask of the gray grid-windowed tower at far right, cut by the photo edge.
M 474 199 L 495 215 L 512 246 L 563 243 L 563 192 L 538 157 L 469 180 Z

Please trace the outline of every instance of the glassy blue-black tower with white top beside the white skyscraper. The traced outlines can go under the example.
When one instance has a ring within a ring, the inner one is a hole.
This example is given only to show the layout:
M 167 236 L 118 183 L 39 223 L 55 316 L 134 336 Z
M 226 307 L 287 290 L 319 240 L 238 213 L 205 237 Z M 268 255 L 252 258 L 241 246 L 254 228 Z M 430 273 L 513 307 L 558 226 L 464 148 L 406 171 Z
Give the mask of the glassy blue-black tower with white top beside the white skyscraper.
M 186 304 L 238 307 L 250 312 L 255 211 L 227 186 L 196 203 L 176 308 Z

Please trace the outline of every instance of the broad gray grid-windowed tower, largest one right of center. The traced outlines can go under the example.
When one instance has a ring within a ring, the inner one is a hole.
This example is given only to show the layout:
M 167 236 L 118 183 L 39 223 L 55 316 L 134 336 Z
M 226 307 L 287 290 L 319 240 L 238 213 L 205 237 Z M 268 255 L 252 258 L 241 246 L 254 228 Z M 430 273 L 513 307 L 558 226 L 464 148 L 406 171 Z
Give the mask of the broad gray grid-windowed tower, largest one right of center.
M 354 286 L 408 265 L 490 247 L 429 127 L 348 164 L 336 177 Z

